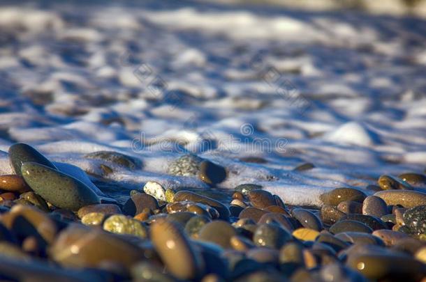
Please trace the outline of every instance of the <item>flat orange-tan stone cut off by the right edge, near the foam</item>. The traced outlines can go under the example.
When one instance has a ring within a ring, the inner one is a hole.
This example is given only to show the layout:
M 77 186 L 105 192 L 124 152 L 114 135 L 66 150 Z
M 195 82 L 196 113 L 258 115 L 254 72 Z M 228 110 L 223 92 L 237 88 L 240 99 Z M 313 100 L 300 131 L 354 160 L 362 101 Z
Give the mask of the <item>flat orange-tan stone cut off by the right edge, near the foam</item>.
M 426 194 L 409 190 L 385 190 L 374 194 L 382 198 L 387 205 L 402 205 L 406 208 L 426 205 Z

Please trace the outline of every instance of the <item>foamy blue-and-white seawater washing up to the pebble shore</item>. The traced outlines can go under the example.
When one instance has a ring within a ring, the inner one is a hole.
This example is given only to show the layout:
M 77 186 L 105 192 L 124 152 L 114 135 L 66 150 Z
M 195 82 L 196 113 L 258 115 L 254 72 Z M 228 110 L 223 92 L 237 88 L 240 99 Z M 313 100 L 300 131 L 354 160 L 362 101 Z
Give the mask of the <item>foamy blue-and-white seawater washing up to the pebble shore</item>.
M 209 189 L 167 174 L 195 152 L 226 167 L 219 188 L 255 183 L 300 205 L 423 173 L 425 21 L 124 3 L 0 8 L 0 173 L 17 141 L 91 177 L 89 152 L 139 158 L 107 176 L 117 189 Z M 293 171 L 304 162 L 316 167 Z

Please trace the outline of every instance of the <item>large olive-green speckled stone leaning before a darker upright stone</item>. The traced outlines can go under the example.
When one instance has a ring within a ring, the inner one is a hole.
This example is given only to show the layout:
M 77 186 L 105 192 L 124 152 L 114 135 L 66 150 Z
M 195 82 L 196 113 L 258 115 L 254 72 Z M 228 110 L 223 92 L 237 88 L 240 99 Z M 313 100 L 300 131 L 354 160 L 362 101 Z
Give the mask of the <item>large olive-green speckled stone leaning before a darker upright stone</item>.
M 22 164 L 25 182 L 55 207 L 77 211 L 85 205 L 100 203 L 87 185 L 65 173 L 34 162 Z

